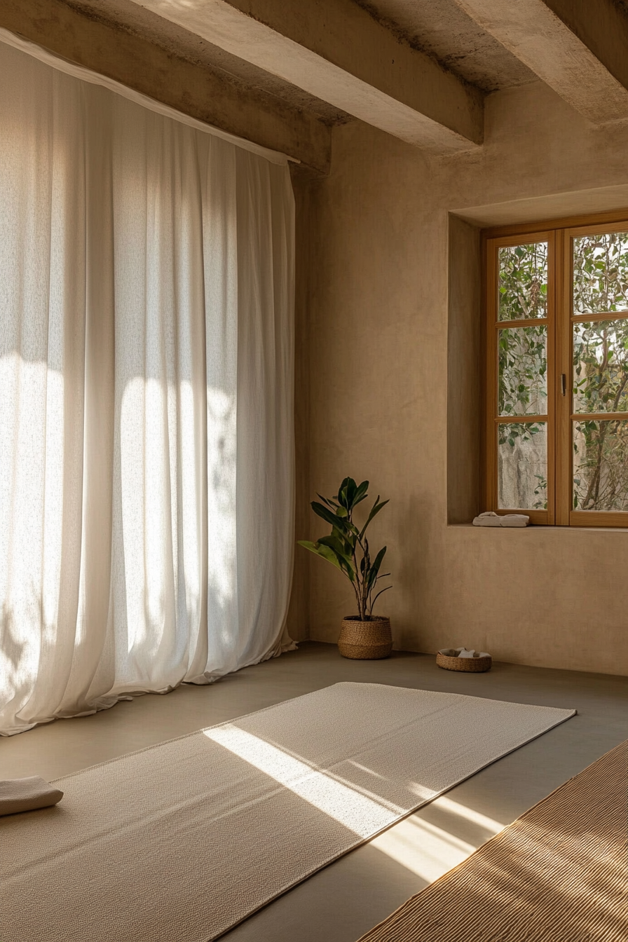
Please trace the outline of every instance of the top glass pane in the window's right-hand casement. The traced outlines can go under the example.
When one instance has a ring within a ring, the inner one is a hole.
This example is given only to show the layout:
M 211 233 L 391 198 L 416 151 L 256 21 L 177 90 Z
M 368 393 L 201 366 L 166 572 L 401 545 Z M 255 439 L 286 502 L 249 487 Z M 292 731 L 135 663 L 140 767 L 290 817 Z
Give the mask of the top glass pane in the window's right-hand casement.
M 628 233 L 573 239 L 574 314 L 628 311 Z

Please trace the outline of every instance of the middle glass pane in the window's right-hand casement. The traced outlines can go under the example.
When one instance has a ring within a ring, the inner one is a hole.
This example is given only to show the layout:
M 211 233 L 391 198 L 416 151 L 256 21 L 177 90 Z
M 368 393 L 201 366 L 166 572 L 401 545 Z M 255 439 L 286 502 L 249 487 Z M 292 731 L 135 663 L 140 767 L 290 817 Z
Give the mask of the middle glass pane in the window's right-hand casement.
M 628 318 L 573 325 L 573 412 L 628 411 Z

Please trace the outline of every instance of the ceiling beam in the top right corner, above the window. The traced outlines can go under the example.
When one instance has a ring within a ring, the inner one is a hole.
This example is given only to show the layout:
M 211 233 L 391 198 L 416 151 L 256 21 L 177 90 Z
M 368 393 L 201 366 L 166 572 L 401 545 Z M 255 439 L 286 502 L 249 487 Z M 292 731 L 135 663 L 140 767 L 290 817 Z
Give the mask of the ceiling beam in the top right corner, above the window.
M 628 118 L 628 19 L 613 0 L 456 0 L 595 124 Z

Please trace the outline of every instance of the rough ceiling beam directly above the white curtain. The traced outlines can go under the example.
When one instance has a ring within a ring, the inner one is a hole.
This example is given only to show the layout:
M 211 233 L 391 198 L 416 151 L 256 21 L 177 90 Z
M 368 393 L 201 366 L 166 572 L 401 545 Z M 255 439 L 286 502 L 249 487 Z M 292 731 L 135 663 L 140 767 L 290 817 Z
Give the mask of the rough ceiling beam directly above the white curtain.
M 2 0 L 0 26 L 201 122 L 294 157 L 316 176 L 330 171 L 330 127 L 314 114 L 177 56 L 122 24 L 58 0 Z

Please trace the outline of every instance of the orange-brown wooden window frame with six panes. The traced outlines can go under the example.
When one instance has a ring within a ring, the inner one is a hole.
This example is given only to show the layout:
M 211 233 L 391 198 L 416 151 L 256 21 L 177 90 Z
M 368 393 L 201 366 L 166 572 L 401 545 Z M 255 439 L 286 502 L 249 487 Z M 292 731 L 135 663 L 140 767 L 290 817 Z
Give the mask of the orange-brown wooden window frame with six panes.
M 549 527 L 628 528 L 628 512 L 574 511 L 572 509 L 572 324 L 575 321 L 620 319 L 623 312 L 608 315 L 573 315 L 572 238 L 596 233 L 628 232 L 628 209 L 596 216 L 548 219 L 530 224 L 485 229 L 481 234 L 483 317 L 483 422 L 482 482 L 486 509 L 497 513 L 526 513 L 530 523 Z M 547 317 L 525 321 L 498 321 L 497 252 L 525 242 L 548 244 Z M 626 312 L 628 317 L 628 312 Z M 498 345 L 499 328 L 547 323 L 547 417 L 499 416 Z M 498 327 L 499 325 L 499 327 Z M 562 395 L 561 375 L 567 377 L 567 395 Z M 579 414 L 580 416 L 582 414 Z M 591 419 L 628 419 L 628 413 L 587 414 Z M 499 422 L 547 422 L 547 510 L 497 507 L 497 435 Z

